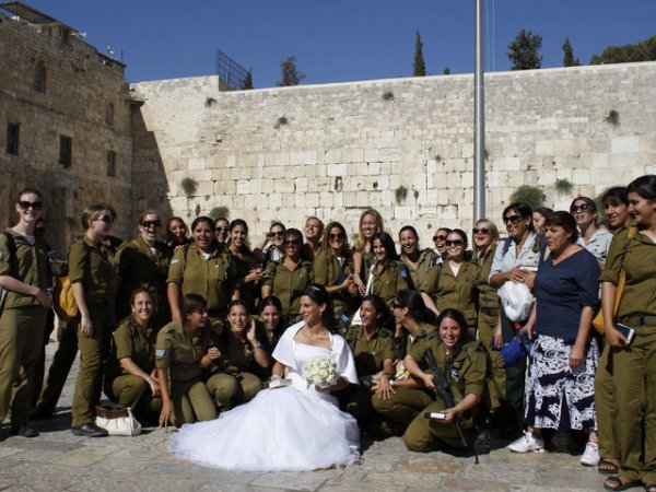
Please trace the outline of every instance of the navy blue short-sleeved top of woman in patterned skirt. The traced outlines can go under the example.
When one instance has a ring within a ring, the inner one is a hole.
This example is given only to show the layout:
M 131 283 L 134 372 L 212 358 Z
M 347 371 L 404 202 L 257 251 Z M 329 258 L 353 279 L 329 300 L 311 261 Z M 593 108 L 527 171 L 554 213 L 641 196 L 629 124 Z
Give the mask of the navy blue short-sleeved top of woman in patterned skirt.
M 537 303 L 535 331 L 538 335 L 576 340 L 581 313 L 597 307 L 599 263 L 587 249 L 581 249 L 558 265 L 549 257 L 540 265 L 534 294 Z

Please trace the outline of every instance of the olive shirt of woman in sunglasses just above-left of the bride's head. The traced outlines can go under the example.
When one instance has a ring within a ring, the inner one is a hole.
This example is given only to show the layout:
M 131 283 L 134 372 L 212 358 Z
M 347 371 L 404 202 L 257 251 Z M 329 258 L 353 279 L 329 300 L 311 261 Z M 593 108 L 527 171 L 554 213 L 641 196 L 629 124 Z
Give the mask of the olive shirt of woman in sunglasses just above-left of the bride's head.
M 301 317 L 301 296 L 313 279 L 312 262 L 301 260 L 290 270 L 283 257 L 267 265 L 266 278 L 263 285 L 269 285 L 271 293 L 282 303 L 282 316 L 286 323 L 296 323 Z

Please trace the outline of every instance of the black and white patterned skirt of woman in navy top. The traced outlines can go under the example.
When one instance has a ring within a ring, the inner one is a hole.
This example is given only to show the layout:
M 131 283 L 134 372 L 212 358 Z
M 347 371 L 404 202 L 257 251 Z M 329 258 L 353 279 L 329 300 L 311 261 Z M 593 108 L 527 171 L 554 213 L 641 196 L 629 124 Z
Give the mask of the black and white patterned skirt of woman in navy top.
M 531 349 L 530 375 L 526 391 L 526 422 L 558 431 L 597 429 L 595 371 L 599 358 L 594 339 L 585 361 L 572 370 L 573 341 L 538 335 Z

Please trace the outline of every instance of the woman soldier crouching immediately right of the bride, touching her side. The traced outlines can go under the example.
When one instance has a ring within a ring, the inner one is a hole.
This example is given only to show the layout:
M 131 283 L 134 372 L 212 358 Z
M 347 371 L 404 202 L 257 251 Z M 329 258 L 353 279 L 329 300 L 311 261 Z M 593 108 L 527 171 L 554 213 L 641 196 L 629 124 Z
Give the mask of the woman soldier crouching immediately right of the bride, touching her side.
M 382 374 L 387 380 L 394 375 L 394 339 L 391 331 L 387 329 L 390 323 L 389 309 L 377 295 L 364 296 L 360 317 L 362 326 L 353 326 L 347 333 L 360 386 L 350 391 L 345 407 L 361 427 L 366 427 L 374 413 L 372 393 L 386 398 L 391 391 L 389 385 L 379 385 L 378 380 Z

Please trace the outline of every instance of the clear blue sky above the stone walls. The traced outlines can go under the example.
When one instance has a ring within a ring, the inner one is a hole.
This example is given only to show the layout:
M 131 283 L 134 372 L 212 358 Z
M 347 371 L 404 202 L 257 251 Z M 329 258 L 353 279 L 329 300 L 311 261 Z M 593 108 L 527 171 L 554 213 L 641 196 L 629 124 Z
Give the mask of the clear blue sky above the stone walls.
M 256 87 L 276 85 L 296 56 L 311 83 L 407 77 L 414 31 L 430 73 L 473 71 L 475 0 L 24 0 L 110 45 L 130 82 L 214 73 L 219 48 L 253 68 Z M 656 0 L 484 0 L 485 70 L 509 68 L 507 44 L 520 28 L 542 35 L 542 67 L 562 66 L 565 36 L 589 62 L 610 45 L 656 34 Z

